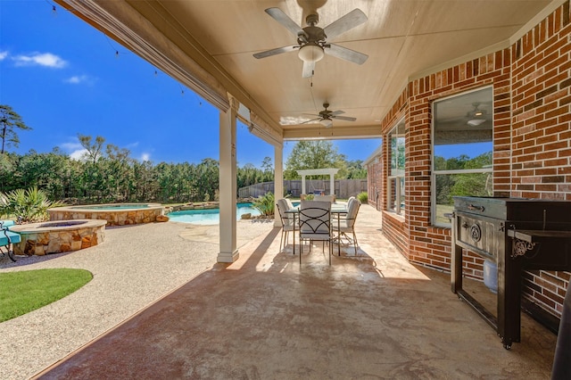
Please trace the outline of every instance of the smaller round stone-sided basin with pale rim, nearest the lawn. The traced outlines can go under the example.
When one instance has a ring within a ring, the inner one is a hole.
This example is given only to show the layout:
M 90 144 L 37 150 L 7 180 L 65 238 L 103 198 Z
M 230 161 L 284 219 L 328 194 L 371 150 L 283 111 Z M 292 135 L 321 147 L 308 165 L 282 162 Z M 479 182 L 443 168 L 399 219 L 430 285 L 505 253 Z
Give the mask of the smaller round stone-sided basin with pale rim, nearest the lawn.
M 12 226 L 10 230 L 21 237 L 14 253 L 41 256 L 89 248 L 103 242 L 106 224 L 105 220 L 78 219 Z

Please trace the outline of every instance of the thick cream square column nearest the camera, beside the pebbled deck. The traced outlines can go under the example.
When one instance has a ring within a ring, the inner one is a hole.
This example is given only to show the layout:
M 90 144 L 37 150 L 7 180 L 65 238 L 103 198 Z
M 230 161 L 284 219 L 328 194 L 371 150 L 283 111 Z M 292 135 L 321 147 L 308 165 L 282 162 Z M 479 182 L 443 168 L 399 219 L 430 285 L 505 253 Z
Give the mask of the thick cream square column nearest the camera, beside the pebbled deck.
M 228 112 L 219 113 L 220 129 L 220 224 L 218 262 L 234 262 L 236 249 L 236 101 L 230 99 Z

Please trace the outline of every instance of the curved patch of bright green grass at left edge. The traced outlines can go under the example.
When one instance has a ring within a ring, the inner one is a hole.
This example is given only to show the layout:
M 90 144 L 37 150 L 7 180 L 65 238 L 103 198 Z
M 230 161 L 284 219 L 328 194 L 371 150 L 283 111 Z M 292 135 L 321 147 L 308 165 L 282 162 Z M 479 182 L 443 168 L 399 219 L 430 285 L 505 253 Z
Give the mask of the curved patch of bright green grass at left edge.
M 0 322 L 60 300 L 92 278 L 88 270 L 70 268 L 0 273 Z

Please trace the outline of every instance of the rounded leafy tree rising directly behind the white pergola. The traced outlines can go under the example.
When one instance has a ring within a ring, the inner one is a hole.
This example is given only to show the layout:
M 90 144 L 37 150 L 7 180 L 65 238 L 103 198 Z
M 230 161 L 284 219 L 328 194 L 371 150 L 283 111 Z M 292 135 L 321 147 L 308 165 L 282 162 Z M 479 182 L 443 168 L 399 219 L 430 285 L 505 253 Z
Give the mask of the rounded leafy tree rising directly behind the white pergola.
M 347 163 L 344 154 L 337 153 L 337 148 L 330 141 L 299 141 L 294 145 L 287 161 L 285 161 L 285 179 L 297 179 L 298 169 L 337 168 L 337 178 L 346 178 Z

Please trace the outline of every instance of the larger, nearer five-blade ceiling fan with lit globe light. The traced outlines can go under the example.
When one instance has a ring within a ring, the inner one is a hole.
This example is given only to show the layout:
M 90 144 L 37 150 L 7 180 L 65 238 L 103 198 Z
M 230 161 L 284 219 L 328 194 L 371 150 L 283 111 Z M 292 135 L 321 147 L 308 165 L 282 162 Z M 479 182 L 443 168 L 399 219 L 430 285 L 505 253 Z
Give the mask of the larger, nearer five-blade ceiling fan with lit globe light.
M 327 42 L 327 38 L 335 38 L 347 30 L 353 29 L 367 21 L 365 13 L 358 8 L 353 9 L 337 21 L 333 21 L 325 28 L 319 28 L 317 26 L 319 22 L 318 14 L 309 14 L 305 18 L 307 26 L 303 29 L 279 8 L 268 8 L 265 12 L 274 20 L 282 24 L 285 29 L 292 32 L 294 36 L 297 37 L 297 44 L 278 47 L 277 49 L 253 54 L 255 58 L 266 58 L 272 55 L 293 52 L 295 49 L 299 49 L 297 55 L 303 61 L 303 78 L 310 78 L 313 76 L 315 62 L 319 62 L 323 59 L 324 54 L 333 55 L 334 57 L 357 64 L 362 64 L 367 61 L 367 54 L 362 54 L 346 47 Z

